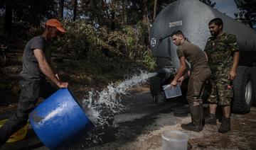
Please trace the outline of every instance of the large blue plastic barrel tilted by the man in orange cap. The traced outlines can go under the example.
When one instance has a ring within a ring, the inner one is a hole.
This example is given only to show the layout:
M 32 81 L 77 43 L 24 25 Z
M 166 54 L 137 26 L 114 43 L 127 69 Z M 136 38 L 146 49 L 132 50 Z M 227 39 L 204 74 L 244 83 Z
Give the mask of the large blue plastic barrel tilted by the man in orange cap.
M 94 127 L 67 88 L 38 105 L 29 120 L 39 139 L 50 149 L 67 144 Z

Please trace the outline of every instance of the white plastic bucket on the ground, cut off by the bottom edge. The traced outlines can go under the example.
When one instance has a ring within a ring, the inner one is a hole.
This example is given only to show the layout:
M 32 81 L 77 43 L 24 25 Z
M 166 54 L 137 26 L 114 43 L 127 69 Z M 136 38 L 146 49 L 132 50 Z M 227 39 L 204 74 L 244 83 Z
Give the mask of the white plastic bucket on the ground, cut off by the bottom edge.
M 188 148 L 188 134 L 178 130 L 165 130 L 162 135 L 163 150 L 186 150 Z

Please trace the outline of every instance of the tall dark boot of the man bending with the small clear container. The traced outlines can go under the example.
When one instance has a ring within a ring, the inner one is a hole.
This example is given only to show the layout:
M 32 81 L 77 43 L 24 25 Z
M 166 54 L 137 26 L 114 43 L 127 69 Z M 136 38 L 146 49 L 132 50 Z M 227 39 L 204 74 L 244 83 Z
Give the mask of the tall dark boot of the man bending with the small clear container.
M 193 102 L 189 104 L 191 112 L 191 123 L 181 124 L 182 129 L 191 130 L 194 132 L 201 132 L 203 130 L 203 104 L 194 106 Z

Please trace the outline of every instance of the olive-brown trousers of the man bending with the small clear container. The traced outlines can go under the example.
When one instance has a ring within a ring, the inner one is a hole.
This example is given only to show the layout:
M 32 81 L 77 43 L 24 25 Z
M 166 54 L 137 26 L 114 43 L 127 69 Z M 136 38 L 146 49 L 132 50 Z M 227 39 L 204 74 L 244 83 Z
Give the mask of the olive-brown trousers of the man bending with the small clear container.
M 205 83 L 211 74 L 210 68 L 200 67 L 191 71 L 191 76 L 188 79 L 188 93 L 186 99 L 194 106 L 203 103 L 201 99 Z

